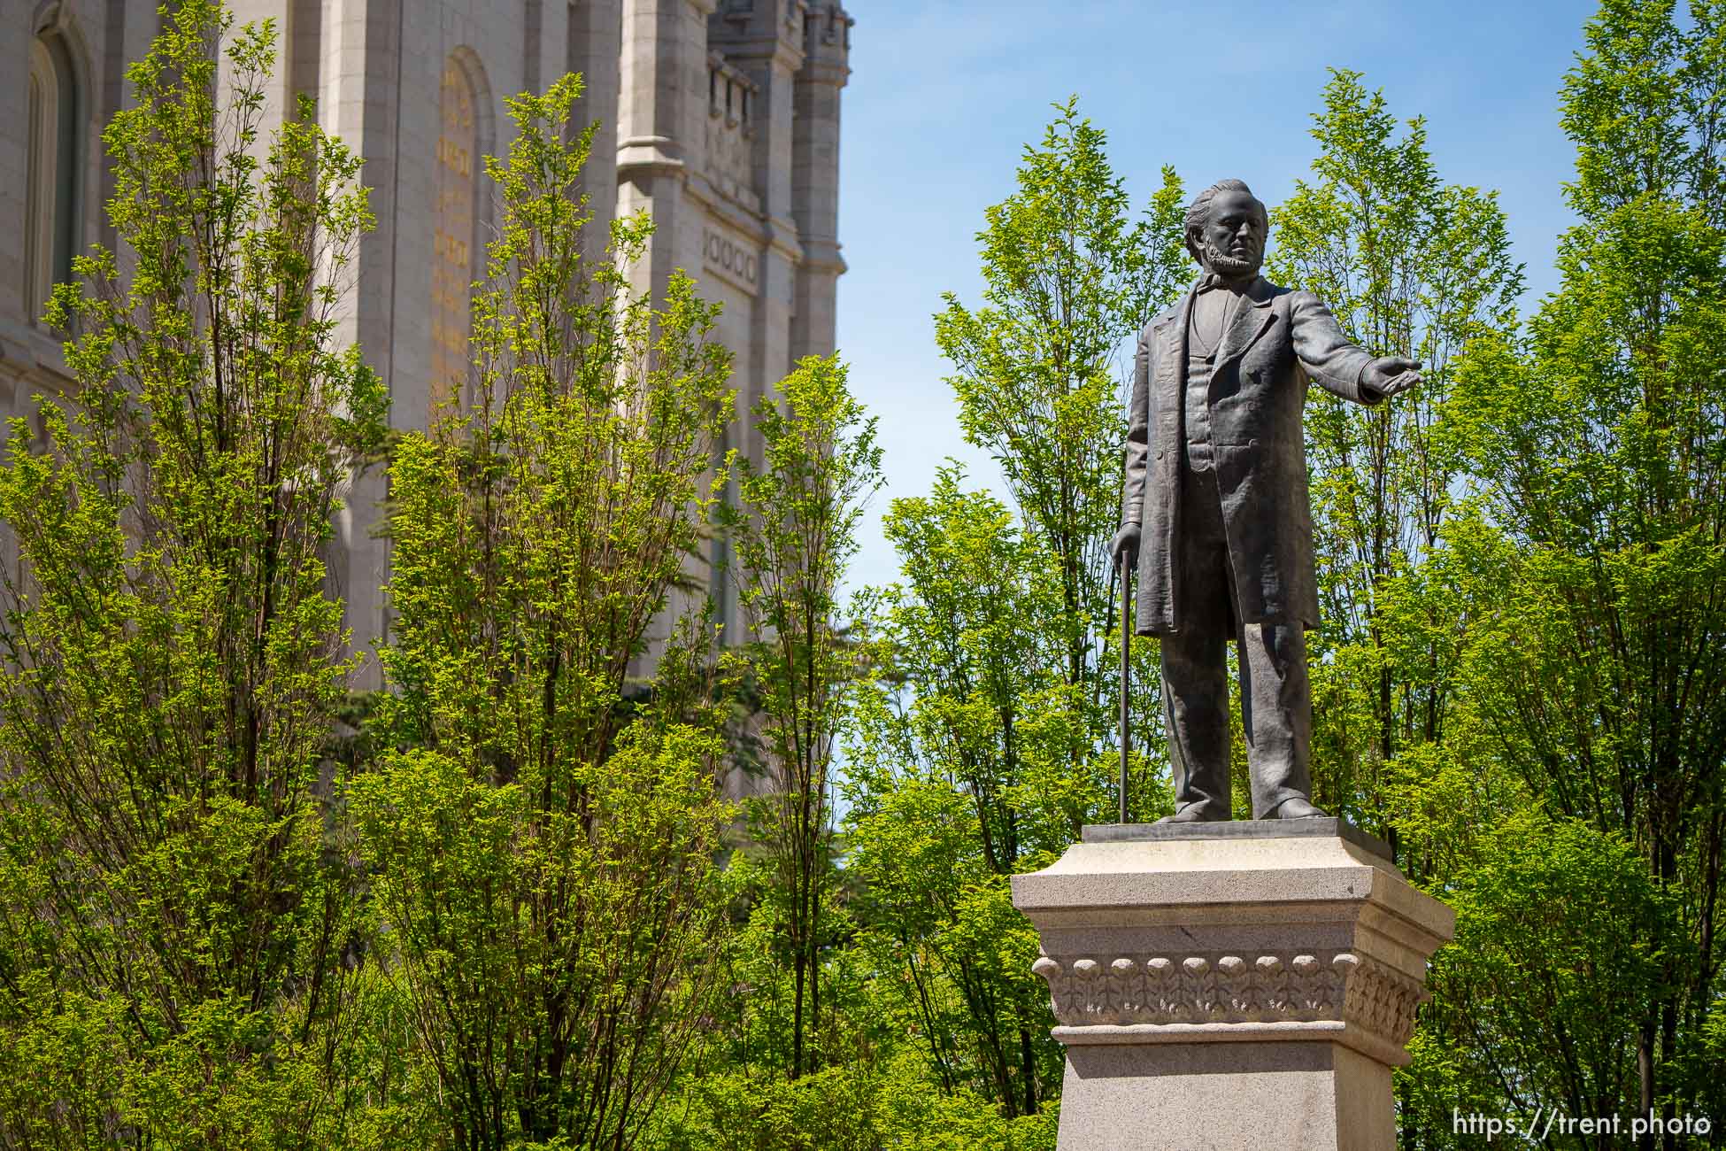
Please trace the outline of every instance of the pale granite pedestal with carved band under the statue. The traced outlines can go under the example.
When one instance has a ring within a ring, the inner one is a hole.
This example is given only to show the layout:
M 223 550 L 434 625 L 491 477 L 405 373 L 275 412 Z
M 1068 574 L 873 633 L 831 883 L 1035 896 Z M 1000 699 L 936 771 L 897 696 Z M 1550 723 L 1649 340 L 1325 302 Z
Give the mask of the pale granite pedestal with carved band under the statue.
M 1455 913 L 1341 820 L 1087 827 L 1013 877 L 1067 1047 L 1060 1151 L 1395 1151 Z

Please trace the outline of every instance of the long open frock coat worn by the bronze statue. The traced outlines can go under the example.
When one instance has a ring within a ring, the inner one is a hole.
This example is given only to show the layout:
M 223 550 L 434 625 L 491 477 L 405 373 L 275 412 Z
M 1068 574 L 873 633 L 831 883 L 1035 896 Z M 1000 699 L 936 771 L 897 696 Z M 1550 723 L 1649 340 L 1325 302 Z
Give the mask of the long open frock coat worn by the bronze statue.
M 1120 519 L 1141 525 L 1139 635 L 1181 630 L 1181 480 L 1186 438 L 1187 316 L 1194 293 L 1139 333 L 1127 414 Z M 1372 355 L 1350 343 L 1310 292 L 1253 281 L 1210 378 L 1210 440 L 1241 623 L 1319 625 L 1301 409 L 1310 380 L 1357 404 Z

